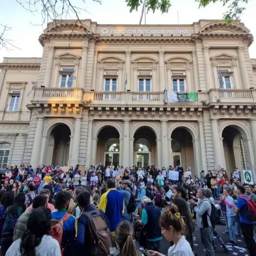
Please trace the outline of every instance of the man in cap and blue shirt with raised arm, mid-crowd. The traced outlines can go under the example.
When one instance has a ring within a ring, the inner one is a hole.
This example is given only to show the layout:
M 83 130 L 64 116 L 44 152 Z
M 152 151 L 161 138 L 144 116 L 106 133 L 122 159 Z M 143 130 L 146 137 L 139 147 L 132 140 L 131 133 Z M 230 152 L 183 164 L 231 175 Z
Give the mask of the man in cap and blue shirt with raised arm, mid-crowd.
M 131 181 L 123 180 L 122 186 L 120 186 L 120 177 L 116 177 L 116 189 L 122 193 L 125 198 L 125 213 L 123 219 L 132 222 L 132 213 L 127 212 L 127 206 L 131 199 Z

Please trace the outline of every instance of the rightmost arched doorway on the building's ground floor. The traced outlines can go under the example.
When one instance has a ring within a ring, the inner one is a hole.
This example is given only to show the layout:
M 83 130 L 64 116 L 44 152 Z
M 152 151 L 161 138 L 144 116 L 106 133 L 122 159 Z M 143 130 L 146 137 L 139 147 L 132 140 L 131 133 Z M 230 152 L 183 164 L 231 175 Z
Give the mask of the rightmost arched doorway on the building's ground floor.
M 222 131 L 222 138 L 227 173 L 230 175 L 236 167 L 239 170 L 246 170 L 244 138 L 240 131 L 233 126 L 227 126 Z

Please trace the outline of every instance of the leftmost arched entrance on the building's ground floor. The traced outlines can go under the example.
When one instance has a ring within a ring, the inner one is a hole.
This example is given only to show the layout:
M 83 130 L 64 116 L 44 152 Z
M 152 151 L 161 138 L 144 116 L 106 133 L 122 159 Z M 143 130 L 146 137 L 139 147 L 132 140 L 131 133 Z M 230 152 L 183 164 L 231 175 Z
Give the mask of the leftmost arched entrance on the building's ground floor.
M 70 135 L 70 128 L 67 125 L 59 124 L 52 129 L 47 146 L 46 164 L 68 165 Z

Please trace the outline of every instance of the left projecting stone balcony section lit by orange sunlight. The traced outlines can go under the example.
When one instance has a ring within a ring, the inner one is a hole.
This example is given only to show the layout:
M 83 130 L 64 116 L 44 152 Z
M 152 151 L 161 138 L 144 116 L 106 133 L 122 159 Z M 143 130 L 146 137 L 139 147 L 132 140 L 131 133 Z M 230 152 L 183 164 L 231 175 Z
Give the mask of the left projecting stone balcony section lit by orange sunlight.
M 36 88 L 33 102 L 76 103 L 83 101 L 83 88 Z

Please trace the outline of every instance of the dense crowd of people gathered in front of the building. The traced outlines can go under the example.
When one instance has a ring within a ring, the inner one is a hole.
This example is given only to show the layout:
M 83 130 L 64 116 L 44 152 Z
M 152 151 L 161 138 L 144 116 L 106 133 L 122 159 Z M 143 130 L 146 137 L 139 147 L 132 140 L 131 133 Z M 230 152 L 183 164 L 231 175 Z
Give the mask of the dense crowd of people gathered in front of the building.
M 100 163 L 85 171 L 21 164 L 3 166 L 0 182 L 1 256 L 162 256 L 163 237 L 171 243 L 168 256 L 193 256 L 195 225 L 207 256 L 215 255 L 214 236 L 227 250 L 241 235 L 256 255 L 256 186 L 242 184 L 237 168 L 230 177 L 221 169 L 193 180 L 181 166 Z M 215 230 L 216 203 L 226 220 L 226 243 Z

